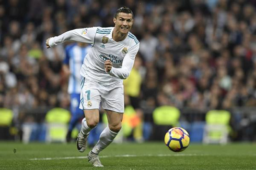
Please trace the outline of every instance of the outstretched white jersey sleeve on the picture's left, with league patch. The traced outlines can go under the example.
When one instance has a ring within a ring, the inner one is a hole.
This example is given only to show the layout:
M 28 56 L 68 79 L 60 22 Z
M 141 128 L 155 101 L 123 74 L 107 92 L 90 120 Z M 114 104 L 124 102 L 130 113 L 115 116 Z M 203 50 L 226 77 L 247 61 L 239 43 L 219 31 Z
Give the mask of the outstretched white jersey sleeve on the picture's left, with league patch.
M 66 41 L 75 41 L 75 42 L 93 44 L 96 31 L 97 31 L 97 27 L 67 31 L 59 36 L 51 37 L 49 40 L 49 46 L 53 47 L 58 44 L 64 43 Z

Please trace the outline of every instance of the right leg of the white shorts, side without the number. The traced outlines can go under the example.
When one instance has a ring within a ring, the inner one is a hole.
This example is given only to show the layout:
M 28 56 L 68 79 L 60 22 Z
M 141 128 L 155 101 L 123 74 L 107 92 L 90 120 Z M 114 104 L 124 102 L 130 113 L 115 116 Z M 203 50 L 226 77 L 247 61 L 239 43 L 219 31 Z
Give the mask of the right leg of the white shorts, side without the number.
M 123 87 L 107 90 L 101 98 L 102 108 L 117 113 L 124 113 L 124 92 Z

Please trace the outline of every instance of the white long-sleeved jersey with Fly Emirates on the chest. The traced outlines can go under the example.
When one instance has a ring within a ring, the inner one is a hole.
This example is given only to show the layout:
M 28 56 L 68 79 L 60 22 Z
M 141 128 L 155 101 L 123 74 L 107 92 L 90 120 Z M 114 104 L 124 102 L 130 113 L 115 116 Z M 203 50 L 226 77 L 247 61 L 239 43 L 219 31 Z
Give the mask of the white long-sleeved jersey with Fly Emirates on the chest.
M 139 49 L 137 38 L 129 32 L 123 41 L 115 42 L 112 38 L 114 27 L 92 27 L 75 29 L 50 38 L 50 47 L 65 41 L 90 43 L 91 50 L 86 55 L 80 74 L 87 80 L 108 85 L 110 88 L 122 86 L 133 67 Z M 106 73 L 104 61 L 111 60 L 113 67 Z

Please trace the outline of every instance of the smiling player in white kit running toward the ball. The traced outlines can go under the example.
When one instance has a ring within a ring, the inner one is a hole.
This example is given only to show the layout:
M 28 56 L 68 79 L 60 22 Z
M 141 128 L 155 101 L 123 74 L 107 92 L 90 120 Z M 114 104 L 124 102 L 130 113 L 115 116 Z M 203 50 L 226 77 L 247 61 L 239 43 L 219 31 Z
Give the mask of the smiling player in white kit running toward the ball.
M 133 67 L 139 49 L 137 38 L 130 32 L 133 24 L 133 12 L 121 7 L 115 12 L 114 27 L 92 27 L 67 31 L 46 40 L 50 48 L 66 41 L 90 43 L 91 50 L 86 55 L 80 74 L 80 109 L 85 119 L 77 138 L 77 149 L 84 152 L 87 137 L 99 122 L 100 102 L 107 112 L 108 126 L 100 134 L 95 147 L 88 153 L 93 166 L 103 166 L 99 152 L 105 149 L 118 135 L 124 113 L 123 79 L 126 79 Z

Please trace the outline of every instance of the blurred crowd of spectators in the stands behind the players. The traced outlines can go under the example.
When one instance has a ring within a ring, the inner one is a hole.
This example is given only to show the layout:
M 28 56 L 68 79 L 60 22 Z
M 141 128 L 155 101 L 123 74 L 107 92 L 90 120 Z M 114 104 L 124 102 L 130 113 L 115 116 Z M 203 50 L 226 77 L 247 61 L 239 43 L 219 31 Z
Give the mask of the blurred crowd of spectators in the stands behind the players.
M 131 32 L 140 41 L 141 81 L 131 97 L 142 108 L 256 106 L 253 0 L 0 0 L 0 107 L 67 108 L 67 44 L 46 49 L 45 40 L 113 27 L 121 6 L 134 12 Z

